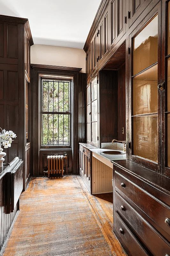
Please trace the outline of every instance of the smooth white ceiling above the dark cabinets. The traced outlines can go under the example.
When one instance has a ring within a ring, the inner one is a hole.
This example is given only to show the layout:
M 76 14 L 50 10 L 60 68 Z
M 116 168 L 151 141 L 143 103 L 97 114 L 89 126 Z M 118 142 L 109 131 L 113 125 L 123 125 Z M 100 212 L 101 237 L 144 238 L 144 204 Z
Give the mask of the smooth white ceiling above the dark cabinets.
M 34 44 L 83 49 L 101 0 L 0 0 L 0 14 L 26 18 Z

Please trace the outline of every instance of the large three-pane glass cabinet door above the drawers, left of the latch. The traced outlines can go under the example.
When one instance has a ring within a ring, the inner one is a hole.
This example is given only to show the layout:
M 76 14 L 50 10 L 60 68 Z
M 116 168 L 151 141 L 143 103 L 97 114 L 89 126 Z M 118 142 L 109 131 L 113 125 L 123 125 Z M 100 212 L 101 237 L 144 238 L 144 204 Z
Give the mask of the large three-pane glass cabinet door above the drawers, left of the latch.
M 159 6 L 130 40 L 130 160 L 160 172 Z

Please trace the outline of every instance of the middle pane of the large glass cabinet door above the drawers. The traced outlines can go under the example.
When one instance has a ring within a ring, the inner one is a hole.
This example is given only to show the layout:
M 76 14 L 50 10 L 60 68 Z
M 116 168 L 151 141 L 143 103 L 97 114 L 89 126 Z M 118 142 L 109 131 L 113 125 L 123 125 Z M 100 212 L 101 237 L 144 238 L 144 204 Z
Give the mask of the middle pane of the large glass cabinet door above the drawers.
M 133 78 L 133 115 L 158 111 L 158 67 L 145 70 Z

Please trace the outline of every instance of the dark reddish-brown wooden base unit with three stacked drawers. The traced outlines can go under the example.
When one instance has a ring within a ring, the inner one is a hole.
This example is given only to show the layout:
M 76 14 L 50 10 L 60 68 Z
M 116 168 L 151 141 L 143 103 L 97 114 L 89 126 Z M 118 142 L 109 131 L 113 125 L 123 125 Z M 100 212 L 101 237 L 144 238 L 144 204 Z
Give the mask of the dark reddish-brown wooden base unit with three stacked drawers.
M 146 180 L 151 175 L 149 169 L 126 160 L 122 165 L 122 168 L 113 165 L 115 234 L 129 255 L 136 255 L 137 248 L 138 255 L 169 255 L 169 179 L 157 174 Z M 160 179 L 163 182 L 161 187 Z M 129 236 L 134 238 L 133 241 Z

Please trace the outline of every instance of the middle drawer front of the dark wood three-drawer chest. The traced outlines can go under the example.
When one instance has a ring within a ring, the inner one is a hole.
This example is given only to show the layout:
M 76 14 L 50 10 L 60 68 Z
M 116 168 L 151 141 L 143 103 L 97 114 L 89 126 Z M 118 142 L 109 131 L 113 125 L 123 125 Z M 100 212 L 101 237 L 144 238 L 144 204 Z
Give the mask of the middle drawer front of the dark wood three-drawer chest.
M 170 254 L 170 244 L 140 216 L 117 192 L 115 192 L 115 211 L 128 222 L 142 244 L 154 255 Z

